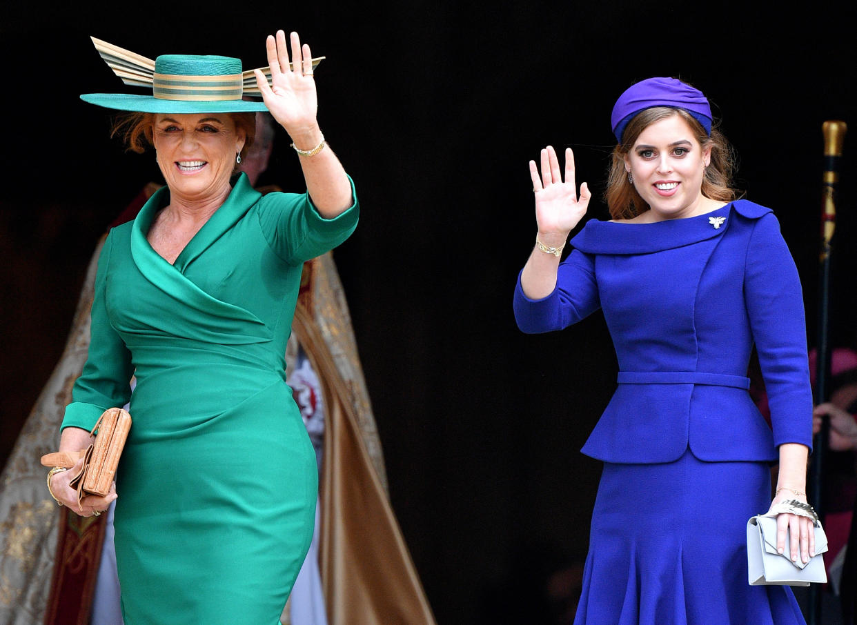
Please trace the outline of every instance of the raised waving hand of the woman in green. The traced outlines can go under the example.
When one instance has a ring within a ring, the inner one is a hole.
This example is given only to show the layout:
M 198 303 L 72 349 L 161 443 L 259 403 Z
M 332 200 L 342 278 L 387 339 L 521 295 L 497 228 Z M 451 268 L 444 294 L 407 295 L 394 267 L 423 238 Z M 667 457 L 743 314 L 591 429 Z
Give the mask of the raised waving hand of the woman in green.
M 256 69 L 256 85 L 265 100 L 273 118 L 285 128 L 294 141 L 303 136 L 314 134 L 318 129 L 315 116 L 318 111 L 318 97 L 313 79 L 312 54 L 309 45 L 301 45 L 297 33 L 291 33 L 291 68 L 285 33 L 277 31 L 277 36 L 268 35 L 267 59 L 271 66 L 269 86 L 265 75 Z M 298 146 L 305 147 L 305 146 Z M 313 146 L 309 146 L 313 147 Z

